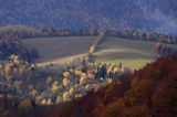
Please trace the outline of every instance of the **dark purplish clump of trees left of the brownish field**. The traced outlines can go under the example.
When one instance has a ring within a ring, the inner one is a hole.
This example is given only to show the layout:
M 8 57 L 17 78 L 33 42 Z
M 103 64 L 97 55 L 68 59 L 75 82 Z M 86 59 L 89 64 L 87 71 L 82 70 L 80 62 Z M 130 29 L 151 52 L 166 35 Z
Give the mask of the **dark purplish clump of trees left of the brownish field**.
M 17 35 L 7 34 L 0 38 L 0 60 L 9 60 L 12 54 L 33 62 L 39 57 L 38 50 L 27 47 Z

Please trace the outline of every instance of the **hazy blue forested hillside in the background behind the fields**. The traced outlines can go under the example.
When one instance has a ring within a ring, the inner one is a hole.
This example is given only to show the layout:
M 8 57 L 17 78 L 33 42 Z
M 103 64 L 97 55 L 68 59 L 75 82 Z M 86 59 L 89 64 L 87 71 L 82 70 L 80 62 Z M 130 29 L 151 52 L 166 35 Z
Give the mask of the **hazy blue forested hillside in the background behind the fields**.
M 0 25 L 148 30 L 177 34 L 175 0 L 0 0 Z

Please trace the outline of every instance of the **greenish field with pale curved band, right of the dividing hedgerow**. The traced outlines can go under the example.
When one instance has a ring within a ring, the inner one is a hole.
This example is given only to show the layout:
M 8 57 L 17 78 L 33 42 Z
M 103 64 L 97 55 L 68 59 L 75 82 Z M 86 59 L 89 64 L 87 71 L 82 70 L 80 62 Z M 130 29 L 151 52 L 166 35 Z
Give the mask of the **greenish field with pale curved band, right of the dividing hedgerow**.
M 138 70 L 153 61 L 153 42 L 107 36 L 98 46 L 94 59 L 103 63 L 119 63 Z M 177 50 L 177 45 L 168 45 Z

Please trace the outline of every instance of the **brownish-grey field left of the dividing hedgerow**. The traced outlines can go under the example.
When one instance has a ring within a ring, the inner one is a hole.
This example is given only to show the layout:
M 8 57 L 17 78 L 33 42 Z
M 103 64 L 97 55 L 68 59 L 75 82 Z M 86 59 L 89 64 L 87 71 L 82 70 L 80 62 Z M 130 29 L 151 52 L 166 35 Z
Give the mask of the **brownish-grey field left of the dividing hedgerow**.
M 37 63 L 55 63 L 69 56 L 87 53 L 96 36 L 37 38 L 23 40 L 27 46 L 38 49 L 40 59 Z

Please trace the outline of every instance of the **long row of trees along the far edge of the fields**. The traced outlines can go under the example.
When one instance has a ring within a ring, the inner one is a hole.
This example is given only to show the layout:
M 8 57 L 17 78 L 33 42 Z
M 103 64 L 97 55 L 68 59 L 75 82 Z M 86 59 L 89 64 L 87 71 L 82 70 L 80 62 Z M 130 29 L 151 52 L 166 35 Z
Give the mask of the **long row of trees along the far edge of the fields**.
M 13 34 L 21 39 L 40 36 L 84 36 L 98 35 L 101 31 L 95 26 L 88 26 L 83 30 L 52 28 L 52 26 L 28 26 L 28 25 L 8 25 L 0 28 L 0 36 Z M 162 34 L 143 30 L 105 30 L 106 35 L 118 36 L 132 40 L 159 41 L 169 44 L 177 44 L 177 35 Z

